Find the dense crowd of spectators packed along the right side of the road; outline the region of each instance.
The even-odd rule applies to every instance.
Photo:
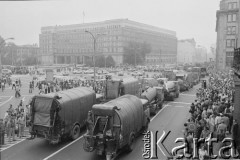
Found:
[[[233,79],[224,73],[211,74],[197,90],[197,99],[190,106],[191,117],[184,124],[184,138],[188,153],[193,152],[193,138],[217,138],[234,135],[236,121],[233,119]],[[233,136],[234,137],[234,136]],[[234,139],[234,138],[233,138]],[[224,145],[224,144],[222,144]],[[213,155],[213,147],[208,150],[206,142],[198,143],[199,159]]]

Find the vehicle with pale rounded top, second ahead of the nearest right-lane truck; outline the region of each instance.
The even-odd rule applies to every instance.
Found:
[[[164,92],[164,98],[173,101],[174,98],[179,97],[179,93],[180,87],[178,81],[168,81]]]

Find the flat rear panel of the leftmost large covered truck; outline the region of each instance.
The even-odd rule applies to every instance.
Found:
[[[34,103],[34,125],[50,127],[50,109],[53,98],[37,97]]]

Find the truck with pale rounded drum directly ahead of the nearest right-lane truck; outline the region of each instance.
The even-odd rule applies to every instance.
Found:
[[[164,102],[163,87],[150,87],[141,94],[141,98],[148,100],[150,114],[155,115]]]

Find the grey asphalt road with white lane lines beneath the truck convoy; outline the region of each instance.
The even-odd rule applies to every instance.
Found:
[[[159,136],[163,131],[171,131],[166,138],[164,145],[168,150],[174,146],[174,141],[182,137],[183,124],[189,118],[189,106],[195,99],[195,89],[184,92],[173,102],[167,102],[164,109],[160,110],[155,117],[152,117],[149,130],[159,131]],[[2,108],[0,108],[2,109]],[[1,113],[2,114],[2,113]],[[82,132],[82,134],[84,131]],[[119,160],[140,160],[143,159],[142,136],[137,138],[135,149],[131,153],[122,153],[116,159]],[[98,160],[95,152],[85,152],[83,150],[83,138],[71,142],[66,141],[58,145],[50,145],[42,139],[24,140],[2,152],[3,160]],[[166,159],[164,154],[158,149],[158,159]]]

